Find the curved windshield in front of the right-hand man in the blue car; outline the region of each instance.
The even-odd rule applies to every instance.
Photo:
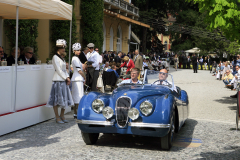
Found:
[[[162,85],[171,90],[176,90],[173,76],[165,71],[145,70],[143,84]]]

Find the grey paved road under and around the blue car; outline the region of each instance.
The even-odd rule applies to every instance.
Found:
[[[0,137],[0,159],[240,159],[240,132],[235,128],[235,92],[224,88],[208,71],[172,72],[190,98],[190,117],[175,135],[170,151],[159,139],[101,135],[86,146],[70,114],[70,123],[49,120]]]

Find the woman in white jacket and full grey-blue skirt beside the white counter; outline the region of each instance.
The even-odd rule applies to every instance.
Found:
[[[60,124],[68,123],[64,118],[64,112],[67,107],[72,107],[74,105],[69,89],[71,80],[67,73],[66,62],[62,58],[66,44],[67,42],[64,39],[59,39],[56,42],[57,53],[52,58],[55,73],[52,79],[53,83],[50,97],[46,105],[47,107],[53,107],[56,122]],[[58,115],[58,107],[61,108],[60,116]]]

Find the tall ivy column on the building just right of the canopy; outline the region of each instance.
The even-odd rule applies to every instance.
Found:
[[[103,0],[82,0],[81,16],[82,16],[82,37],[83,46],[88,43],[94,43],[95,47],[102,50],[103,46]]]

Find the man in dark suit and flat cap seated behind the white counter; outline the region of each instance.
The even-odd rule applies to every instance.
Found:
[[[19,57],[20,61],[24,61],[24,64],[35,64],[36,60],[33,57],[33,48],[25,47],[23,55]]]

